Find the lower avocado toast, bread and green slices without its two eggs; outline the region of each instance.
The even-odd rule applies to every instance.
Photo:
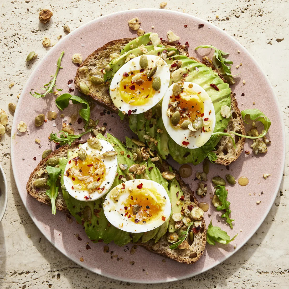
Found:
[[[105,218],[103,212],[104,198],[99,198],[95,201],[78,201],[71,197],[65,189],[63,175],[67,157],[78,148],[79,144],[81,144],[79,142],[75,142],[71,146],[62,146],[43,159],[29,177],[26,187],[27,192],[38,201],[50,204],[50,200],[45,194],[48,188],[46,185],[48,182],[43,183],[42,181],[47,179],[47,161],[48,164],[50,164],[51,162],[49,160],[51,160],[51,158],[53,158],[53,160],[58,159],[57,164],[54,165],[55,168],[59,167],[61,171],[60,181],[56,181],[56,186],[59,188],[58,197],[55,201],[56,208],[62,212],[72,214],[78,223],[84,225],[86,234],[93,242],[110,243],[114,241],[114,243],[119,246],[123,246],[132,241],[149,251],[169,257],[178,262],[186,264],[196,262],[205,249],[206,226],[202,216],[197,216],[197,220],[190,217],[193,209],[198,208],[198,202],[189,186],[186,185],[179,176],[179,173],[166,162],[152,162],[150,158],[147,160],[134,161],[131,156],[140,148],[138,146],[140,143],[137,141],[126,138],[125,146],[110,134],[107,135],[107,139],[101,134],[98,134],[97,138],[110,142],[117,152],[119,165],[112,188],[127,179],[136,178],[154,180],[162,184],[166,189],[172,204],[172,217],[167,219],[163,225],[146,233],[130,234],[112,226]],[[121,164],[125,164],[126,166],[121,166]],[[129,168],[132,165],[136,165],[138,168],[143,167],[143,171],[130,173]],[[163,177],[166,176],[166,174],[170,175],[168,179]],[[173,216],[174,213],[175,215]],[[174,219],[176,220],[176,214],[181,215],[182,218],[189,218],[190,222],[193,222],[190,230],[183,221],[174,221]],[[176,224],[177,222],[178,224]],[[188,222],[188,220],[185,222]],[[182,247],[170,249],[169,246],[177,241],[178,234],[181,235],[181,231],[185,230],[190,231],[190,233],[187,234],[186,240],[181,243]],[[170,242],[168,240],[170,240]]]

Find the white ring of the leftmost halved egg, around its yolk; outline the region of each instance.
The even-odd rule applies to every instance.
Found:
[[[68,191],[68,193],[75,199],[79,200],[79,201],[94,201],[99,199],[100,197],[102,197],[103,195],[105,195],[108,190],[110,189],[110,187],[112,186],[115,176],[116,176],[116,170],[117,170],[117,157],[116,155],[113,157],[104,157],[102,155],[102,153],[106,152],[106,151],[114,151],[114,148],[112,147],[112,145],[105,141],[105,140],[99,140],[101,143],[101,151],[97,150],[97,149],[93,149],[92,147],[90,147],[88,145],[88,143],[84,143],[81,144],[79,146],[78,149],[76,149],[73,154],[71,155],[71,157],[68,159],[68,162],[66,164],[65,167],[65,173],[63,176],[63,180],[64,180],[64,186],[66,188],[66,190]],[[68,168],[73,167],[74,165],[74,161],[72,160],[73,158],[78,156],[78,151],[79,149],[85,149],[87,155],[91,155],[91,154],[97,154],[99,153],[99,158],[103,161],[104,165],[105,165],[105,178],[103,179],[103,182],[99,185],[99,188],[104,188],[104,190],[99,193],[97,188],[95,190],[92,190],[92,193],[89,193],[89,190],[83,190],[80,188],[75,188],[75,185],[73,183],[73,180],[70,176],[66,175],[66,172],[68,170]],[[69,164],[69,161],[71,160],[71,163]],[[73,187],[73,188],[72,188]]]

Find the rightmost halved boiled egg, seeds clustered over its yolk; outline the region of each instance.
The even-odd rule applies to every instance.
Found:
[[[180,146],[195,149],[211,137],[216,123],[214,105],[198,84],[172,84],[162,101],[162,119],[171,138]]]

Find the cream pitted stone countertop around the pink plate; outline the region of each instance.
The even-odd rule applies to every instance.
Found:
[[[0,0],[0,108],[8,112],[8,103],[17,102],[35,65],[49,48],[42,38],[51,42],[63,32],[112,12],[135,8],[160,8],[162,1],[44,1]],[[289,1],[284,0],[214,0],[170,1],[164,9],[188,13],[213,23],[238,40],[268,75],[279,99],[288,138],[288,59]],[[190,4],[188,4],[190,2]],[[194,3],[192,3],[194,2]],[[176,4],[177,3],[177,4]],[[38,21],[43,8],[53,11],[47,25]],[[216,18],[218,15],[218,19]],[[26,66],[26,55],[38,53],[32,66]],[[14,83],[9,88],[10,83]],[[9,113],[11,127],[13,115]],[[274,148],[277,149],[277,148]],[[8,207],[0,223],[0,288],[129,288],[134,284],[101,277],[81,268],[55,249],[36,228],[27,214],[15,186],[10,165],[9,132],[0,141],[0,163],[4,168],[9,190]],[[254,236],[232,257],[215,268],[190,279],[150,288],[288,288],[288,164],[286,153],[284,179],[275,204],[266,221]],[[248,224],[249,226],[250,224]],[[29,238],[30,237],[30,238]],[[147,288],[138,284],[138,288]]]

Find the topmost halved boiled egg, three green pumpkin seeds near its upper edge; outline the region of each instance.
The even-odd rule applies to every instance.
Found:
[[[129,60],[115,73],[110,84],[110,97],[120,111],[139,114],[164,97],[169,81],[170,71],[162,58],[141,55]]]

